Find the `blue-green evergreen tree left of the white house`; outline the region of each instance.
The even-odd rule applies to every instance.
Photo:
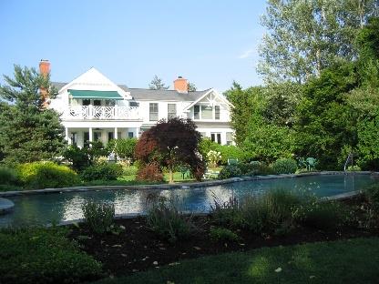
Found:
[[[56,111],[44,106],[41,88],[49,97],[56,96],[49,76],[15,66],[15,78],[4,77],[6,85],[0,86],[0,97],[5,100],[0,113],[0,158],[15,164],[56,157],[65,146],[64,127]]]

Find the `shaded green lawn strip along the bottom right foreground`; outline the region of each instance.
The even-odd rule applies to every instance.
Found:
[[[275,272],[275,270],[281,270]],[[104,279],[118,283],[378,283],[379,238],[235,252]]]

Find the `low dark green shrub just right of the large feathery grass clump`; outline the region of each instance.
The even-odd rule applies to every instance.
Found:
[[[328,230],[342,227],[348,210],[341,202],[316,200],[299,206],[293,216],[304,226]]]

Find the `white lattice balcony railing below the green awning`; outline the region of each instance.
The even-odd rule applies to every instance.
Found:
[[[141,119],[138,106],[68,106],[64,113],[66,119]]]

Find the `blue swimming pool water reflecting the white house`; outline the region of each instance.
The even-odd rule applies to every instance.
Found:
[[[177,189],[118,189],[9,197],[15,203],[13,212],[0,216],[0,227],[48,224],[82,218],[82,205],[89,199],[113,202],[116,214],[143,213],[151,194],[179,200],[179,208],[192,212],[207,212],[214,197],[229,200],[246,194],[260,194],[275,188],[307,192],[318,197],[363,189],[379,183],[370,175],[317,175],[242,181],[207,188]]]

